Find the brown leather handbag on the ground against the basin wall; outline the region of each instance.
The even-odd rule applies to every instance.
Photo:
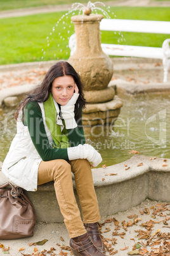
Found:
[[[10,186],[10,187],[9,187]],[[20,187],[10,182],[0,186],[0,239],[33,236],[36,213]]]

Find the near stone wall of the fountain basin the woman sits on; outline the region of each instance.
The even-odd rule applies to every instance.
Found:
[[[101,217],[126,211],[147,198],[170,202],[170,159],[164,162],[161,158],[133,155],[105,169],[92,169],[92,173]],[[0,185],[6,181],[9,180],[0,171]],[[25,191],[25,194],[34,204],[37,221],[63,222],[52,181],[38,186],[37,192]]]

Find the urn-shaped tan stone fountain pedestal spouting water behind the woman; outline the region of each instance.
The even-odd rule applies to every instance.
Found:
[[[72,16],[75,26],[76,48],[69,63],[81,75],[84,84],[86,109],[83,124],[91,127],[99,124],[114,124],[122,101],[115,96],[114,87],[109,87],[114,68],[112,60],[101,49],[100,21],[103,15],[91,14],[84,8],[82,15]]]

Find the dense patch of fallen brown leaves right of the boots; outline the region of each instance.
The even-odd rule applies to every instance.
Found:
[[[119,220],[115,218],[107,218],[105,222],[100,224],[100,232],[103,239],[103,243],[109,255],[117,254],[121,255],[121,251],[129,250],[129,245],[117,250],[119,239],[124,239],[129,227],[136,225],[138,229],[135,229],[136,236],[129,238],[134,241],[133,248],[129,250],[128,255],[145,255],[145,256],[170,256],[170,232],[163,232],[162,228],[169,227],[168,221],[170,220],[170,208],[169,203],[156,203],[149,208],[143,208],[143,211],[139,211],[140,217],[136,214],[127,216],[131,220],[123,220],[120,224]],[[148,216],[148,220],[142,222],[142,218]],[[162,217],[161,220],[155,220],[156,217]],[[165,217],[165,218],[163,218]],[[152,220],[153,218],[153,220]],[[126,219],[126,216],[125,216]],[[109,231],[108,227],[103,228],[105,225],[115,225],[115,231],[112,232],[112,236],[105,237],[105,233]],[[155,229],[155,224],[160,225],[160,229]],[[166,226],[164,226],[164,225]],[[121,232],[124,229],[126,232]],[[118,232],[119,230],[119,232]],[[138,241],[135,243],[135,241]],[[141,241],[141,242],[140,242]],[[127,239],[126,239],[127,244]],[[157,247],[159,246],[159,247]]]

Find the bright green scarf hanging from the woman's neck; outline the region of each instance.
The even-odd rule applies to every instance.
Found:
[[[64,120],[62,120],[64,125],[62,131],[61,126],[56,124],[57,112],[51,92],[49,92],[48,100],[44,101],[44,112],[46,117],[46,125],[48,126],[48,129],[53,137],[53,148],[68,148],[70,144],[67,129],[65,129]]]

